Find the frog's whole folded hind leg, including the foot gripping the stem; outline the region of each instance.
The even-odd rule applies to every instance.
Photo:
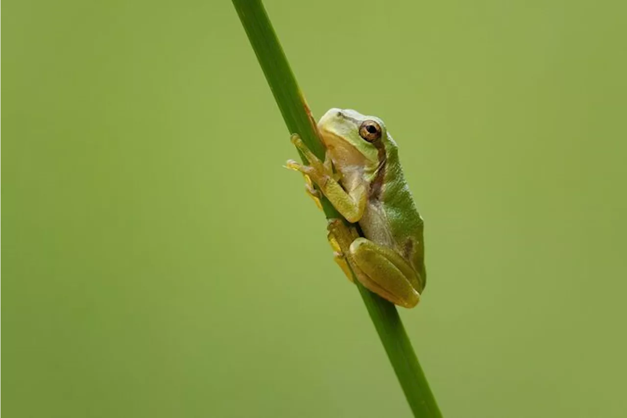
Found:
[[[413,308],[418,304],[418,290],[423,286],[416,271],[403,257],[387,247],[359,237],[352,230],[354,228],[347,227],[341,220],[330,220],[328,229],[329,236],[342,249],[343,257],[361,284],[404,308]],[[346,272],[344,268],[342,270]]]

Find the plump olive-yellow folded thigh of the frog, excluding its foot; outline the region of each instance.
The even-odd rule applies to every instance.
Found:
[[[368,289],[405,308],[418,304],[420,294],[412,286],[418,284],[418,277],[400,255],[366,238],[357,238],[350,244],[350,255],[364,273],[357,278]]]

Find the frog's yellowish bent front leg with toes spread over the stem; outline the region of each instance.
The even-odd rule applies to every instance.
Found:
[[[347,192],[340,186],[337,174],[333,173],[328,153],[325,161],[322,162],[309,150],[298,135],[292,135],[292,143],[305,155],[309,165],[305,166],[290,160],[286,164],[287,168],[300,171],[310,178],[327,196],[337,212],[341,213],[347,221],[350,223],[359,222],[364,210],[366,210],[366,186],[360,185]]]

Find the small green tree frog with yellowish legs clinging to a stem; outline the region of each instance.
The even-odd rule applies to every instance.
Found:
[[[413,308],[426,283],[423,219],[403,176],[396,142],[381,119],[356,110],[330,109],[317,127],[325,161],[294,134],[292,143],[308,165],[289,160],[287,168],[305,175],[312,197],[324,193],[347,221],[359,224],[363,237],[356,225],[329,220],[335,261],[351,281],[347,266],[367,289]]]

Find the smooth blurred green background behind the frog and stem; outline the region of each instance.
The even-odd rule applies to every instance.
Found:
[[[624,2],[266,8],[399,144],[445,416],[624,417]],[[5,2],[0,46],[1,417],[410,416],[229,1]]]

